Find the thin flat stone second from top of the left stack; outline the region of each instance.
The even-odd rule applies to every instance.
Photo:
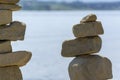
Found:
[[[0,4],[1,10],[11,10],[11,11],[18,11],[21,9],[21,6],[16,4]]]

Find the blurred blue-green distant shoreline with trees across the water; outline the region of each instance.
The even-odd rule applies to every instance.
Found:
[[[120,10],[120,2],[53,2],[53,1],[21,1],[23,10]]]

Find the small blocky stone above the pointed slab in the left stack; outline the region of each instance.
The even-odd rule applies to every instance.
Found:
[[[0,54],[12,52],[11,41],[0,41]]]

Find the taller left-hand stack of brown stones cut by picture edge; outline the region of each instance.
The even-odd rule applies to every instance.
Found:
[[[23,80],[19,67],[27,64],[31,52],[12,52],[11,41],[24,40],[26,25],[12,22],[12,12],[20,10],[19,0],[0,0],[0,80]]]

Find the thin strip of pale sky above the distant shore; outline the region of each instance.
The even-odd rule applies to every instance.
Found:
[[[120,1],[120,0],[39,0],[39,1],[83,1],[83,2],[114,2],[114,1]]]

